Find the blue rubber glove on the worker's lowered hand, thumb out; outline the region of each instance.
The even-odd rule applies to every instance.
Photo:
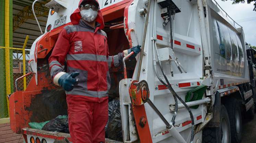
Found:
[[[65,91],[71,91],[78,84],[78,81],[75,79],[80,73],[73,72],[71,74],[65,73],[62,75],[58,83]]]

